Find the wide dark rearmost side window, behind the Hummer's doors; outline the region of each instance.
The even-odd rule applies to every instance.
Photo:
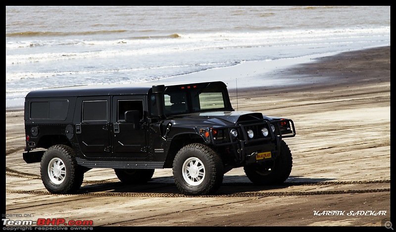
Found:
[[[32,101],[30,118],[34,120],[65,120],[68,109],[68,100]]]

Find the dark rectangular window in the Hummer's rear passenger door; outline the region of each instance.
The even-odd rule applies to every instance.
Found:
[[[83,101],[83,122],[107,121],[107,101]]]

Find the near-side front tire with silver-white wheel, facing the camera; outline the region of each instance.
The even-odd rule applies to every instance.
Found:
[[[208,146],[192,143],[177,152],[173,179],[185,195],[213,194],[221,186],[224,168],[220,157]]]

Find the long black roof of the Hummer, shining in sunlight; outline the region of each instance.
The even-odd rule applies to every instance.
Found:
[[[192,84],[208,84],[204,83],[192,83]],[[223,82],[210,82],[212,84],[224,85]],[[65,96],[99,96],[99,95],[125,95],[125,94],[148,94],[155,85],[179,86],[179,85],[191,85],[190,83],[137,83],[137,84],[107,84],[107,85],[82,85],[82,86],[69,86],[69,87],[57,87],[43,90],[35,90],[26,95],[28,97],[65,97]]]

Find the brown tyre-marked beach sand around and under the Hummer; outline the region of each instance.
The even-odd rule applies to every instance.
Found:
[[[225,174],[225,185],[218,194],[284,191],[284,196],[98,197],[94,193],[165,191],[152,186],[126,190],[118,185],[114,189],[111,185],[92,189],[99,180],[118,183],[111,170],[101,169],[87,172],[82,186],[82,191],[94,195],[50,195],[39,179],[40,165],[27,165],[22,160],[23,111],[6,110],[6,213],[34,214],[32,220],[89,219],[97,226],[382,226],[391,213],[390,68],[390,46],[375,47],[316,58],[267,73],[283,79],[285,85],[251,83],[250,88],[230,89],[236,110],[258,111],[294,121],[297,135],[285,139],[293,154],[293,170],[286,183],[332,184],[252,189],[238,185],[248,182],[239,168]],[[171,170],[156,170],[153,179],[159,181],[166,176],[171,176]],[[227,183],[237,183],[237,187]],[[287,194],[335,190],[345,192]],[[169,191],[178,193],[175,187]],[[186,200],[190,202],[187,205],[183,203]],[[43,201],[48,205],[40,206]],[[145,206],[138,207],[137,201]],[[134,207],[139,210],[133,211]],[[127,218],[120,218],[126,208],[135,213],[131,211]],[[315,210],[382,210],[387,214],[318,217],[313,215]],[[180,213],[186,211],[189,213]]]

